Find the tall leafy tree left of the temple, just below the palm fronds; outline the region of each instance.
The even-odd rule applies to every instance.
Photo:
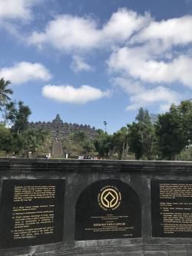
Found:
[[[23,101],[18,101],[18,104],[11,101],[6,105],[5,120],[10,121],[12,131],[22,134],[28,128],[28,116],[31,115],[31,110]]]

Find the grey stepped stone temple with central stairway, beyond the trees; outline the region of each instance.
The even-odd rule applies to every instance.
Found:
[[[78,131],[84,131],[88,138],[93,139],[98,131],[90,125],[78,125],[78,124],[68,124],[63,122],[59,115],[53,121],[38,121],[28,123],[28,128],[45,129],[50,131],[51,134],[51,144],[48,148],[48,153],[54,157],[62,157],[66,154],[71,154],[66,146],[66,139],[71,139],[71,135]]]

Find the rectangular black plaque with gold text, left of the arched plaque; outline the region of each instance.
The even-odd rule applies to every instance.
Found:
[[[4,180],[0,248],[62,241],[65,180]]]

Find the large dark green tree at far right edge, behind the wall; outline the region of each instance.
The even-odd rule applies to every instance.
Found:
[[[159,115],[156,134],[161,157],[175,160],[192,139],[192,101],[171,105],[169,111]]]

